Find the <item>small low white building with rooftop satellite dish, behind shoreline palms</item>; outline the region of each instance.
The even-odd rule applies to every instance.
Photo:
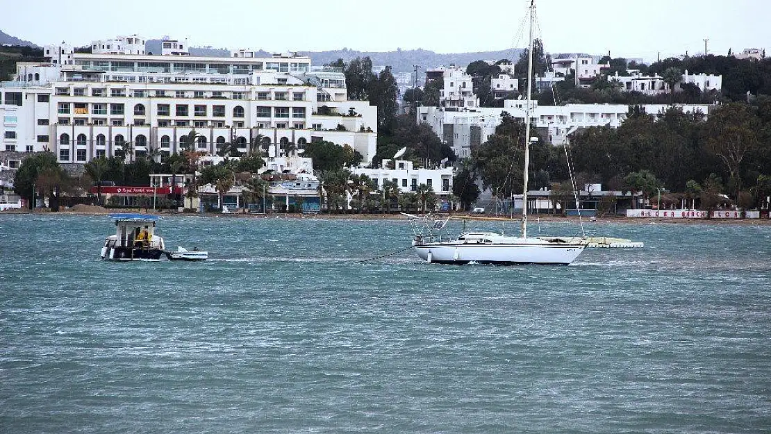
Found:
[[[356,175],[367,175],[375,184],[375,190],[382,190],[385,181],[392,181],[399,185],[402,193],[415,192],[420,184],[426,184],[433,188],[439,197],[446,197],[453,193],[453,168],[443,167],[439,169],[416,169],[409,160],[393,160],[394,169],[388,169],[389,161],[383,160],[379,169],[356,168],[352,172]]]

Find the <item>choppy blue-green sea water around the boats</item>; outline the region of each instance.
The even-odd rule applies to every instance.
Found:
[[[771,226],[584,226],[645,247],[453,266],[396,218],[170,216],[208,261],[115,263],[107,216],[0,215],[0,432],[771,432]]]

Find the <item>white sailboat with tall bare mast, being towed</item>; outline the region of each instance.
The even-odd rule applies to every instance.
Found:
[[[439,264],[571,264],[588,245],[581,237],[527,236],[527,181],[530,165],[530,96],[533,86],[533,20],[535,0],[530,0],[530,49],[527,59],[527,108],[525,109],[524,183],[522,194],[522,230],[520,237],[494,232],[466,232],[454,240],[443,241],[441,230],[447,220],[428,225],[427,232],[416,224],[420,217],[406,214],[415,237],[412,247],[419,257]]]

